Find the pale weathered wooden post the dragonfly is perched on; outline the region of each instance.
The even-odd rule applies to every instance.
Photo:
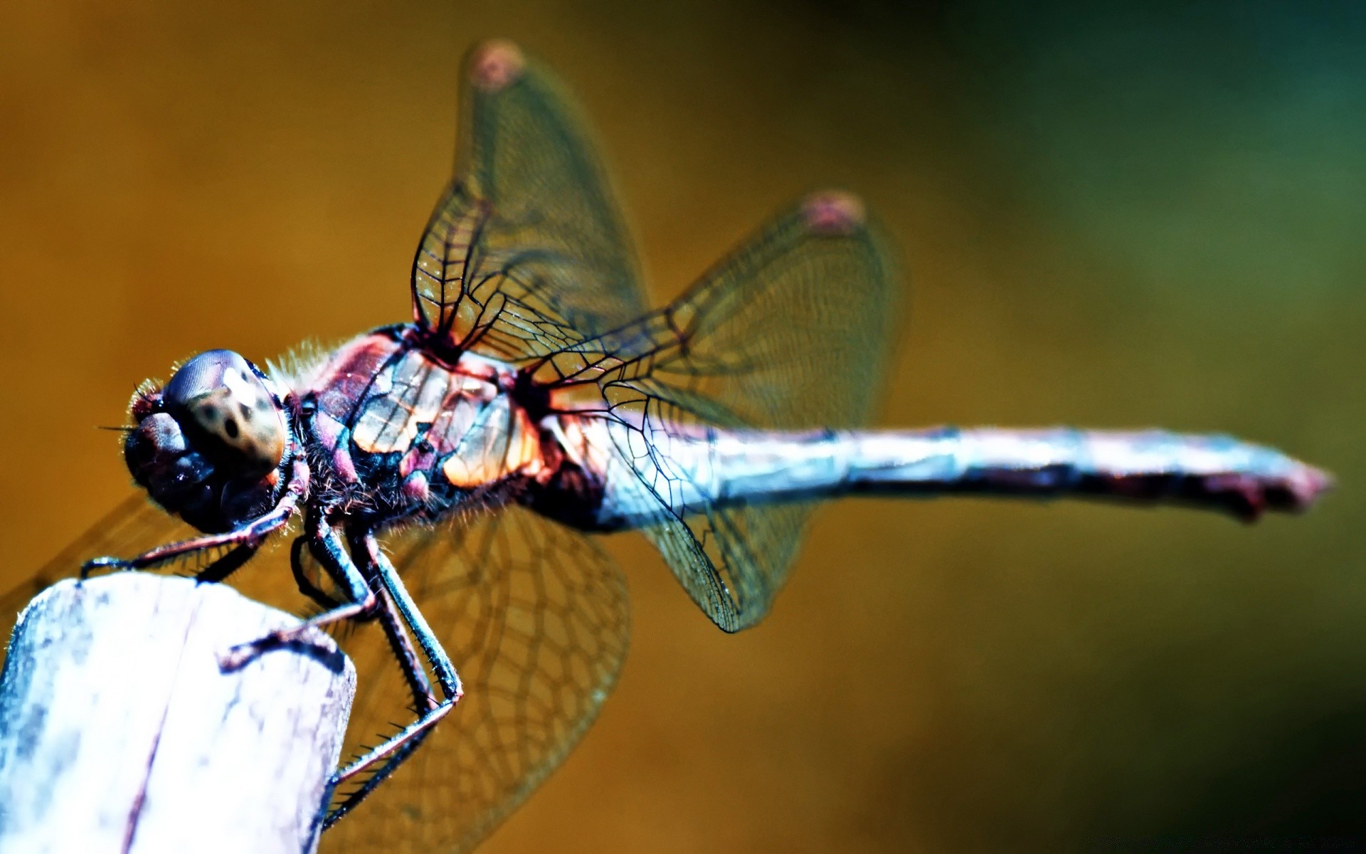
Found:
[[[0,680],[0,851],[299,854],[355,691],[324,633],[232,588],[117,573],[44,590]]]

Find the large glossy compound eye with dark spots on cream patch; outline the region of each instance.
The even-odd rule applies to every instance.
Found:
[[[163,392],[167,411],[243,473],[266,473],[284,458],[284,415],[245,358],[209,350],[184,363]]]

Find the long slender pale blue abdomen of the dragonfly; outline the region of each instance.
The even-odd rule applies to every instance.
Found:
[[[706,430],[628,436],[608,428],[620,454],[607,466],[604,527],[683,515],[705,506],[800,501],[852,493],[1086,496],[1225,510],[1253,521],[1300,511],[1332,478],[1284,454],[1228,436],[1158,430],[994,428],[781,433]],[[620,435],[616,435],[620,433]],[[641,482],[649,488],[641,489]]]

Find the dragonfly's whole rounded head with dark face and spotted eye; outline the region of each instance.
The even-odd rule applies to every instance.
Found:
[[[123,458],[154,501],[199,530],[229,530],[269,510],[288,443],[284,404],[231,350],[194,357],[133,398]]]

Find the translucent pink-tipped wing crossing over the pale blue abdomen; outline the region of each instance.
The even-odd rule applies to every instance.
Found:
[[[809,504],[690,503],[669,445],[703,425],[862,425],[896,320],[897,271],[858,199],[817,194],[773,220],[676,303],[544,361],[594,383],[620,463],[653,496],[646,536],[727,631],[758,622],[787,577]],[[693,492],[697,495],[697,492]]]

